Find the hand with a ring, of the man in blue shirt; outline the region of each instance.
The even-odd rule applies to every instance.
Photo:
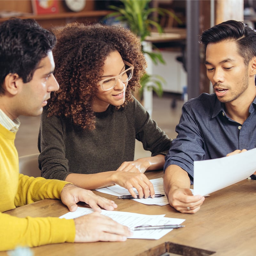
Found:
[[[204,196],[193,196],[189,188],[177,188],[169,191],[170,205],[182,213],[196,213],[204,202]]]

